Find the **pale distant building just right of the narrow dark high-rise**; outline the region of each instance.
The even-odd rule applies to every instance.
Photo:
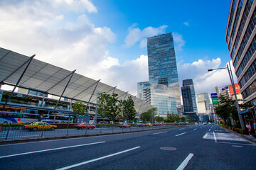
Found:
[[[210,113],[210,98],[208,93],[197,94],[198,114]]]

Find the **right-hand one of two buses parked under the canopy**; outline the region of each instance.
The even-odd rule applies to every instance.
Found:
[[[46,114],[46,115],[43,115],[42,122],[46,122],[46,123],[68,123],[68,119],[70,120],[69,123],[73,123],[73,119],[74,119],[73,116],[69,116],[69,115],[48,115],[48,114]]]

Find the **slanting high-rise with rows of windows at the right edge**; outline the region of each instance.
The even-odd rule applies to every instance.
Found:
[[[225,40],[242,98],[256,101],[256,1],[231,0]]]

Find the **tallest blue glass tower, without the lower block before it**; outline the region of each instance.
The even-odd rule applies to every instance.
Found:
[[[147,39],[149,83],[171,86],[176,94],[176,106],[181,111],[174,38],[166,33]]]

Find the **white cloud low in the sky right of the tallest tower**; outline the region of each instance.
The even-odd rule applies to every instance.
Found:
[[[214,70],[208,69],[220,67],[220,58],[213,60],[198,60],[193,63],[178,63],[178,78],[180,86],[183,79],[193,79],[196,94],[207,92],[214,93],[215,86],[225,86],[230,84],[227,69]]]

